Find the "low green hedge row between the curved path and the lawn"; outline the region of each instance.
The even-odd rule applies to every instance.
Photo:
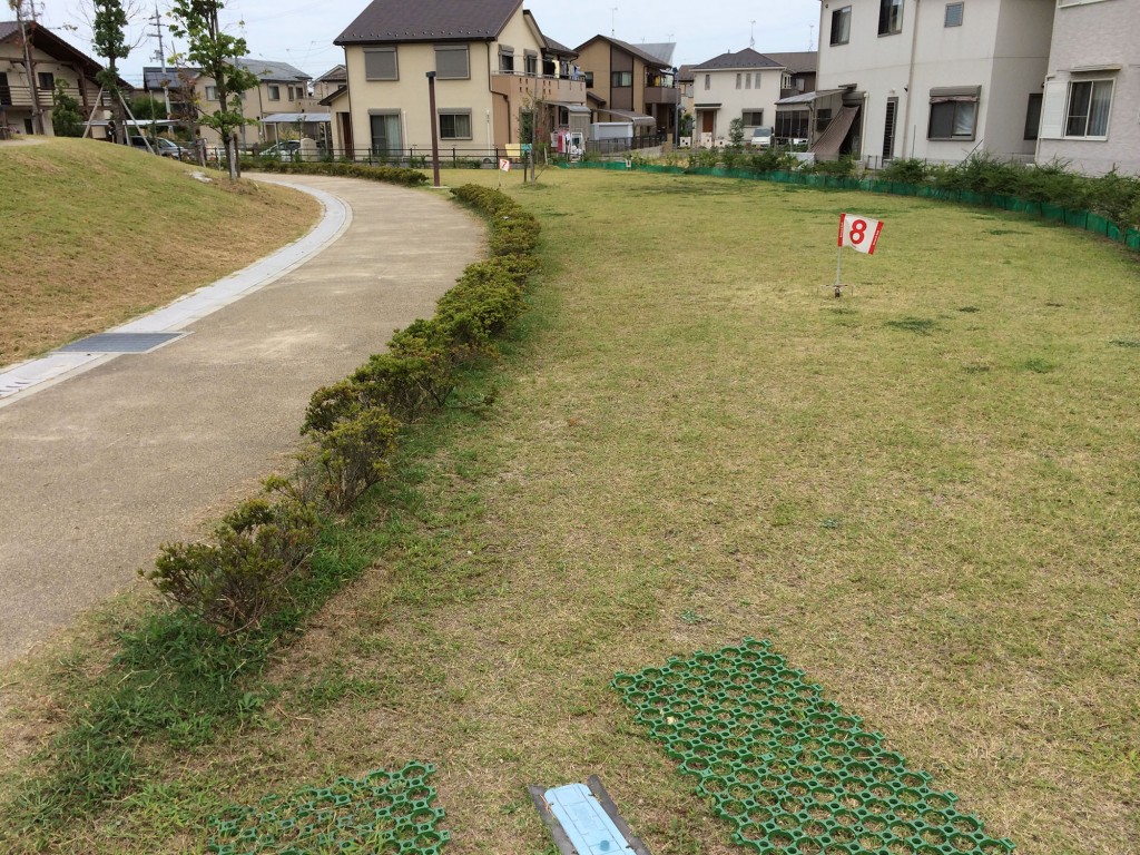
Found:
[[[333,166],[336,174],[363,170],[368,177],[409,172],[282,165],[319,173]],[[397,331],[383,353],[312,394],[301,426],[309,443],[288,477],[266,481],[272,500],[239,505],[217,527],[213,543],[164,545],[155,569],[145,573],[164,596],[220,634],[256,627],[286,605],[296,609],[317,521],[351,511],[390,475],[401,431],[446,406],[458,372],[494,356],[495,340],[524,310],[537,269],[537,220],[498,190],[469,185],[453,193],[487,218],[491,258],[464,270],[433,317]]]

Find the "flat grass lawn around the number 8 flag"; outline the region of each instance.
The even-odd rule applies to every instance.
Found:
[[[1137,258],[912,198],[620,172],[508,190],[546,272],[473,381],[494,405],[406,449],[383,556],[260,715],[149,749],[149,783],[51,847],[201,850],[226,804],[415,759],[455,855],[552,852],[526,784],[592,773],[657,855],[740,852],[608,684],[755,636],[1018,852],[1135,852]],[[836,300],[841,211],[886,228]],[[9,681],[81,683],[100,633]],[[51,730],[35,691],[0,738]]]

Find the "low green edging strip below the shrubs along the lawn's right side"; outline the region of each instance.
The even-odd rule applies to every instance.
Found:
[[[1002,193],[978,193],[966,187],[946,187],[933,184],[911,184],[878,178],[855,178],[838,174],[816,174],[790,171],[757,172],[750,169],[723,169],[715,166],[669,166],[633,162],[629,166],[622,161],[585,162],[562,164],[564,169],[609,169],[637,170],[674,176],[711,176],[716,178],[742,178],[754,181],[774,181],[776,184],[793,184],[806,187],[819,187],[837,190],[862,190],[864,193],[885,193],[896,196],[919,196],[944,202],[958,202],[968,205],[985,205],[1017,213],[1041,217],[1053,222],[1060,222],[1073,228],[1084,229],[1092,234],[1122,243],[1130,250],[1140,251],[1140,228],[1121,228],[1107,217],[1088,210],[1072,210],[1049,201],[1032,201]]]

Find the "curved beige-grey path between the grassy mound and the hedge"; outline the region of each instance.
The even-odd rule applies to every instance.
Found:
[[[0,663],[255,490],[295,446],[312,391],[429,317],[482,251],[482,225],[442,195],[275,180],[342,199],[350,225],[255,293],[177,326],[192,334],[99,358],[0,407]],[[172,317],[128,326],[169,328]]]

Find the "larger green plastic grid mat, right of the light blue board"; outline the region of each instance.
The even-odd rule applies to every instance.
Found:
[[[768,642],[670,658],[618,674],[613,687],[697,791],[751,852],[781,855],[1007,855],[984,832],[825,700]]]

